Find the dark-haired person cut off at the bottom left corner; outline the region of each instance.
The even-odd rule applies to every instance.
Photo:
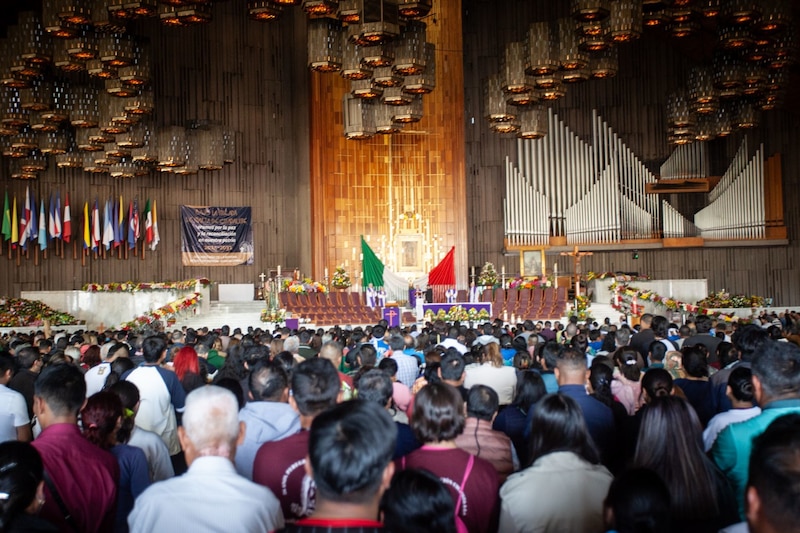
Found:
[[[42,457],[29,443],[0,444],[0,531],[58,531],[37,515],[44,505],[43,472]]]

